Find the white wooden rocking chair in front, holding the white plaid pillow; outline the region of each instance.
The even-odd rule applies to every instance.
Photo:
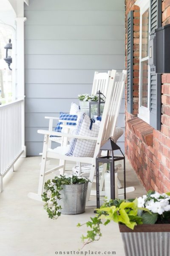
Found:
[[[38,186],[38,193],[29,193],[28,197],[36,200],[41,199],[41,195],[43,192],[43,184],[44,184],[44,177],[49,173],[53,172],[54,170],[60,170],[60,174],[63,174],[65,169],[65,161],[74,161],[79,163],[89,163],[91,164],[91,172],[89,179],[91,182],[88,184],[88,192],[87,192],[87,206],[94,206],[96,203],[94,201],[89,201],[91,195],[91,186],[94,180],[95,168],[96,168],[96,157],[99,153],[100,146],[105,143],[109,137],[111,137],[112,132],[116,126],[116,119],[119,114],[120,103],[122,99],[122,94],[125,86],[125,78],[126,78],[126,71],[123,70],[122,73],[116,73],[116,70],[111,71],[111,79],[109,81],[108,90],[106,93],[106,101],[105,107],[103,110],[102,121],[99,128],[98,137],[88,137],[88,136],[79,136],[75,134],[64,134],[58,133],[54,131],[45,131],[45,130],[38,130],[38,133],[44,134],[44,145],[43,145],[43,152],[42,152],[42,161],[41,161],[41,168],[40,168],[40,180]],[[50,135],[62,136],[65,138],[78,138],[80,140],[95,140],[96,141],[96,148],[94,151],[93,157],[74,157],[74,156],[66,156],[65,154],[56,153],[51,149],[48,149],[48,141]],[[59,147],[62,149],[62,147]],[[50,170],[45,170],[47,160],[54,158],[62,160],[62,165],[54,167]],[[133,188],[133,187],[132,187]],[[134,189],[133,189],[134,190]],[[132,191],[133,191],[132,190]],[[120,189],[119,194],[123,194],[124,189]]]

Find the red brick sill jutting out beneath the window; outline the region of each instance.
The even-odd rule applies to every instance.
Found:
[[[130,130],[134,132],[146,145],[153,145],[153,128],[139,117],[127,121]]]

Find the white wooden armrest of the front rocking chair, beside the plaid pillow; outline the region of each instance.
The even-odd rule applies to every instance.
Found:
[[[39,134],[68,137],[68,138],[77,138],[79,140],[96,140],[97,141],[97,137],[91,137],[91,136],[81,136],[81,135],[76,135],[76,134],[64,134],[62,132],[47,131],[47,130],[38,130],[37,132]]]

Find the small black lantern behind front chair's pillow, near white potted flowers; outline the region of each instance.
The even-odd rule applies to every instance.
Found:
[[[98,101],[89,102],[89,116],[93,119],[102,116],[106,99],[105,95],[103,95],[100,90],[96,93],[96,96],[98,96]],[[99,121],[101,121],[101,119],[99,119]]]

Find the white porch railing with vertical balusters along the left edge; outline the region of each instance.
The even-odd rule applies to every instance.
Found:
[[[25,151],[24,99],[0,105],[0,192],[3,177]]]

